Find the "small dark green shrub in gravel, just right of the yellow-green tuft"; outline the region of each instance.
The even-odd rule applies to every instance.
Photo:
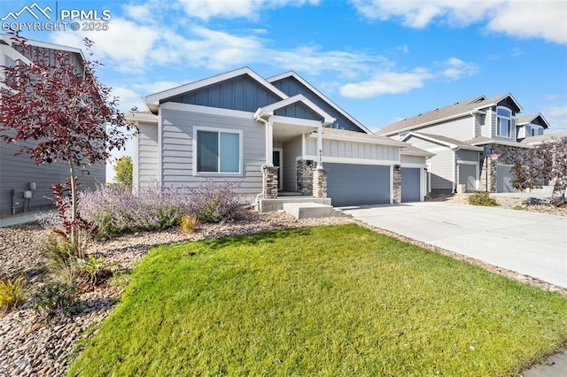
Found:
[[[52,284],[41,289],[34,299],[34,309],[45,320],[58,315],[71,316],[79,311],[79,301],[75,298],[76,289],[71,284]]]

